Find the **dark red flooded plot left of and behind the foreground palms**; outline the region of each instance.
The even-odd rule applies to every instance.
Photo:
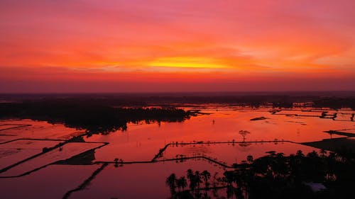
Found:
[[[118,168],[109,165],[92,181],[89,188],[73,193],[70,198],[169,198],[170,191],[165,186],[165,178],[172,173],[177,177],[186,177],[187,169],[200,172],[208,170],[211,173],[210,181],[213,181],[216,172],[218,177],[224,172],[219,166],[203,160],[131,164]],[[225,196],[225,191],[221,194]]]

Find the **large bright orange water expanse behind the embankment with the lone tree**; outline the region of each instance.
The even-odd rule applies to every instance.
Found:
[[[290,140],[293,142],[312,142],[330,138],[326,130],[355,128],[355,123],[322,119],[273,115],[268,108],[232,110],[204,109],[210,115],[199,115],[183,123],[160,123],[160,125],[139,123],[129,124],[126,132],[110,135],[94,135],[88,141],[110,142],[106,147],[97,149],[100,161],[112,161],[118,157],[125,161],[151,160],[160,148],[170,142],[236,142],[243,141],[240,130],[251,132],[246,135],[247,142]],[[307,113],[307,112],[305,112]],[[266,120],[252,118],[266,117]],[[332,137],[342,137],[332,135]],[[282,146],[275,145],[280,151]],[[240,150],[248,150],[250,147]],[[289,147],[296,152],[300,145]]]

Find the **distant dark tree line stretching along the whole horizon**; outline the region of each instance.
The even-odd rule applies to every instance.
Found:
[[[294,103],[310,103],[317,108],[352,108],[355,92],[259,92],[259,93],[136,93],[136,94],[0,94],[0,101],[51,101],[92,106],[183,106],[185,104],[222,103],[239,106],[293,108]],[[298,105],[299,106],[299,105]],[[307,104],[309,106],[309,104]]]

